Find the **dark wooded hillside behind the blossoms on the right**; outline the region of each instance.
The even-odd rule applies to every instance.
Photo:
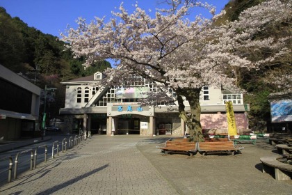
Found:
[[[239,14],[252,6],[256,6],[264,0],[234,0],[229,1],[225,6],[227,14],[220,22],[226,20],[238,20]],[[291,17],[291,16],[290,16]],[[288,17],[287,17],[288,18]],[[220,25],[220,24],[218,24]],[[272,37],[275,40],[284,36],[292,36],[291,21],[283,23],[279,26],[266,26],[263,33],[257,34],[252,39]],[[289,48],[292,48],[291,39],[288,40]],[[245,52],[248,59],[265,59],[268,56],[270,49],[263,48],[261,51],[255,51],[250,48],[250,51]],[[250,126],[262,129],[270,124],[270,103],[269,99],[276,97],[279,99],[291,99],[291,82],[292,82],[292,54],[281,56],[275,63],[267,63],[266,68],[258,72],[249,72],[244,68],[232,70],[236,74],[238,86],[245,89],[245,103],[250,104]],[[279,124],[275,124],[276,126]]]

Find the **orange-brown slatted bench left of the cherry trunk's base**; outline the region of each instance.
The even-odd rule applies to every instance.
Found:
[[[159,148],[168,153],[187,153],[190,156],[197,153],[197,143],[188,141],[166,141],[165,147]]]

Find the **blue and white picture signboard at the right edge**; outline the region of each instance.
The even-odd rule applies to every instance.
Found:
[[[273,100],[270,102],[272,123],[292,121],[292,100]]]

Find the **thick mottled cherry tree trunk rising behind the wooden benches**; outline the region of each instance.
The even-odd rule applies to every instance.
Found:
[[[184,120],[190,133],[190,141],[204,141],[202,134],[202,126],[200,123],[201,107],[200,107],[201,88],[180,89],[177,91],[177,101],[179,102],[179,117]],[[190,111],[185,110],[184,100],[182,96],[190,104]]]

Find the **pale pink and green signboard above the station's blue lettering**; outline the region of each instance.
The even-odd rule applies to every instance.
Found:
[[[122,87],[117,88],[115,92],[115,98],[124,99],[124,98],[147,98],[147,93],[150,92],[149,87]]]

